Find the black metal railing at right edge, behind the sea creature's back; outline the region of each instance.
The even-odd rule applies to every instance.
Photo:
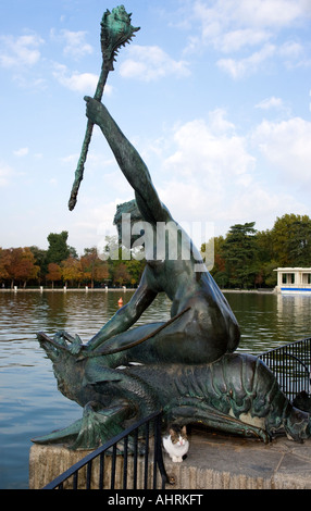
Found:
[[[304,390],[310,395],[311,337],[259,354],[291,401]]]

